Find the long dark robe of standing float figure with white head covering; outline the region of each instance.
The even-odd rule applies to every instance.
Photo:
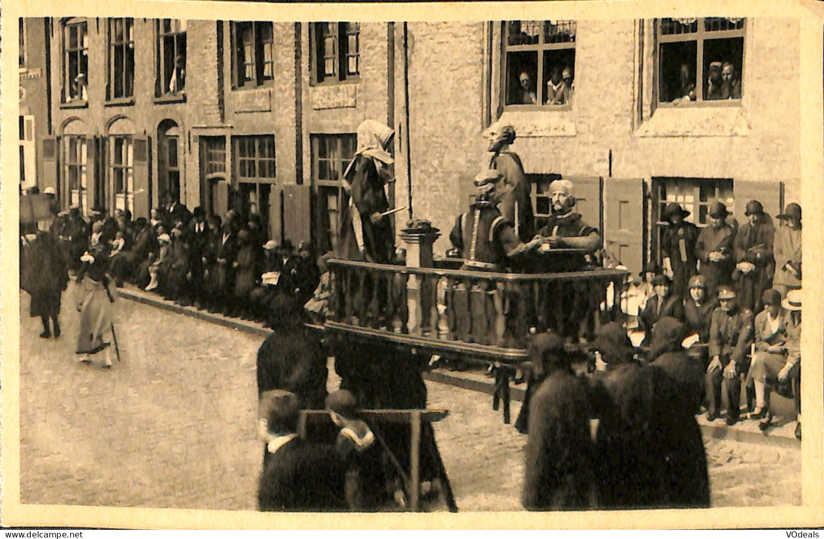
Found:
[[[357,209],[363,225],[363,257],[367,262],[389,263],[395,256],[395,234],[391,219],[383,217],[372,223],[373,213],[389,210],[383,179],[377,173],[372,158],[355,156],[355,162],[347,178],[352,186],[350,197],[353,207],[344,203],[342,208],[339,256],[347,260],[359,260],[361,254],[353,229],[352,211]]]

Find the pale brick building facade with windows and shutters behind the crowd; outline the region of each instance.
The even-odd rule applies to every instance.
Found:
[[[49,51],[38,182],[63,207],[147,216],[171,191],[329,249],[366,118],[396,129],[396,207],[444,232],[484,164],[481,133],[513,124],[537,212],[555,174],[572,179],[634,271],[658,256],[668,201],[705,225],[717,198],[742,221],[753,197],[775,216],[800,196],[796,20],[27,24]]]

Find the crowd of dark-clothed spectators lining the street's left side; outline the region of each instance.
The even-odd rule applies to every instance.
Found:
[[[59,214],[53,231],[70,270],[79,269],[90,246],[105,244],[116,286],[131,283],[180,305],[268,327],[279,295],[306,304],[316,289],[321,293],[319,261],[307,242],[296,250],[289,239],[282,244],[269,239],[256,214],[230,210],[223,220],[202,207],[190,211],[170,194],[163,198],[149,220],[133,220],[131,212],[121,210],[110,216],[93,209],[88,218],[77,208]],[[328,281],[325,276],[327,288]],[[319,306],[319,301],[310,312],[322,316],[325,302]]]

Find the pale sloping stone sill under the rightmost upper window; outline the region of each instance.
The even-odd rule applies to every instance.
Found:
[[[747,109],[738,101],[726,107],[660,107],[634,134],[636,137],[746,137],[749,132]]]

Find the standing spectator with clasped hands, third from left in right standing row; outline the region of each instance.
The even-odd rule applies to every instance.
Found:
[[[775,274],[773,240],[775,228],[772,219],[764,212],[761,202],[747,202],[750,222],[742,225],[735,236],[736,267],[733,281],[737,282],[738,300],[742,307],[753,313],[761,311],[761,295],[772,287]]]

